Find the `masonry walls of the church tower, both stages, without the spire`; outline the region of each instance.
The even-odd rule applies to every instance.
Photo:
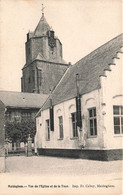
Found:
[[[22,92],[50,93],[49,88],[52,89],[56,86],[67,69],[67,66],[62,64],[62,44],[60,40],[56,39],[56,46],[51,48],[48,44],[48,36],[33,37],[26,42],[25,49],[26,66],[22,69]],[[41,54],[41,59],[47,62],[35,60],[38,54]],[[42,72],[40,86],[37,84],[37,66],[41,68]]]

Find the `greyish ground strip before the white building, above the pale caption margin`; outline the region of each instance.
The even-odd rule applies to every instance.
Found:
[[[6,172],[33,175],[96,175],[122,171],[122,161],[94,161],[46,156],[13,156],[6,159]]]

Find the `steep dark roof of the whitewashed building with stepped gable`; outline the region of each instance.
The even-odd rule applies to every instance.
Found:
[[[79,74],[80,95],[99,89],[100,76],[104,70],[110,70],[109,64],[123,46],[123,34],[97,48],[74,65],[70,66],[65,75],[52,93],[53,105],[72,99],[77,95],[76,74]],[[43,105],[42,110],[50,106],[49,101]]]

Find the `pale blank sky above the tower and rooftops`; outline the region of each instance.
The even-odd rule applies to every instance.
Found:
[[[44,15],[74,64],[122,32],[121,0],[0,0],[0,90],[21,91],[25,42]]]

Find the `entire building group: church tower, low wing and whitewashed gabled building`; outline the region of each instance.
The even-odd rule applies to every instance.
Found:
[[[36,116],[39,155],[122,159],[123,34],[67,64],[42,13],[27,34],[25,50],[21,92],[0,92],[5,119]]]

